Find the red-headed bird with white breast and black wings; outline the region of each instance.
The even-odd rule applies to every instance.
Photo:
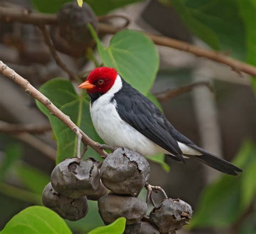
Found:
[[[242,172],[181,134],[159,108],[126,82],[115,68],[95,68],[78,88],[87,90],[93,126],[108,146],[125,147],[143,156],[164,153],[185,164],[187,158],[192,157],[229,175]]]

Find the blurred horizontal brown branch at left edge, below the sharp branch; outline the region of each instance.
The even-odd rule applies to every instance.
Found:
[[[16,124],[0,120],[0,132],[3,133],[44,133],[51,130],[50,125]]]

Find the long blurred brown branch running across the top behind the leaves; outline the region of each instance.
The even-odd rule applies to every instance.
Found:
[[[4,8],[0,6],[0,19],[3,20],[12,20],[12,21],[19,21],[22,23],[29,23],[29,24],[36,24],[36,25],[57,25],[57,17],[56,15],[50,14],[43,14],[43,13],[32,13],[28,10],[18,10],[12,8]],[[114,34],[120,31],[122,28],[111,25],[111,24],[104,24],[99,23],[98,30],[99,33],[102,34]],[[217,61],[218,63],[225,64],[230,66],[232,70],[241,74],[241,72],[245,72],[247,74],[256,77],[256,67],[242,63],[241,61],[232,59],[226,56],[224,53],[214,51],[214,50],[207,50],[196,45],[192,45],[186,42],[182,42],[180,40],[176,40],[170,37],[154,35],[151,33],[143,32],[145,35],[150,37],[153,42],[157,45],[171,47],[177,50],[186,51],[192,53],[199,57],[204,57],[211,59],[213,61]]]

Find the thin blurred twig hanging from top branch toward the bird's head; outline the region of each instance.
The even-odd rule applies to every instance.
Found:
[[[51,51],[52,57],[55,59],[57,65],[59,67],[61,67],[66,73],[68,73],[69,77],[72,80],[77,80],[78,77],[76,76],[76,74],[73,73],[71,70],[69,70],[68,66],[66,66],[66,64],[63,63],[63,61],[59,58],[58,53],[56,52],[55,47],[53,46],[53,44],[51,42],[51,38],[50,38],[48,29],[46,28],[46,26],[45,25],[39,26],[39,29],[41,29],[43,36],[44,36],[44,41],[45,41],[46,45],[48,45],[48,47]]]

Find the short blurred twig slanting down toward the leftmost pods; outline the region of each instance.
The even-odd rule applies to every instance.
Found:
[[[42,152],[45,156],[48,156],[49,159],[55,161],[56,159],[56,149],[46,144],[44,141],[40,140],[38,137],[33,136],[30,133],[12,133],[12,137],[19,139],[33,148]]]

